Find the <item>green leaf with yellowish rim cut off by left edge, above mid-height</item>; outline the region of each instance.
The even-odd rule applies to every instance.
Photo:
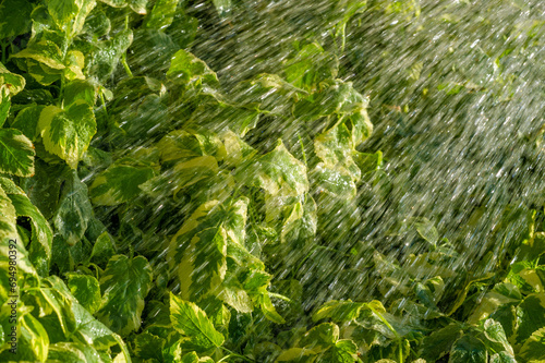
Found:
[[[0,130],[0,172],[17,177],[34,174],[34,145],[15,129]]]

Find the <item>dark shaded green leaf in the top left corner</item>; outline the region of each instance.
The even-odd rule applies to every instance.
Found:
[[[16,11],[14,11],[16,9]],[[2,0],[0,3],[0,39],[15,37],[31,29],[33,5],[26,0]]]

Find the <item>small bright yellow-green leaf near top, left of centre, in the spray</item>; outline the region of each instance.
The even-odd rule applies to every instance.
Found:
[[[208,65],[186,50],[179,50],[172,56],[167,76],[182,83],[217,85],[218,76]]]

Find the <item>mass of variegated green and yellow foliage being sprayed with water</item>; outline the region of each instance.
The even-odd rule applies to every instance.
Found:
[[[543,203],[513,197],[469,254],[403,209],[397,174],[416,164],[372,123],[437,97],[509,101],[507,64],[533,59],[544,23],[506,28],[523,45],[481,55],[484,81],[428,87],[443,64],[415,60],[385,85],[399,78],[360,58],[389,62],[387,46],[362,39],[374,22],[425,32],[423,10],[1,1],[0,361],[545,360]],[[543,131],[525,136],[531,165]],[[367,238],[382,220],[388,239]]]

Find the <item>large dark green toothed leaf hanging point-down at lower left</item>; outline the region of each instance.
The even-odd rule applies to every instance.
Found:
[[[152,266],[144,256],[110,258],[100,277],[102,305],[96,316],[113,331],[126,336],[141,326],[144,298],[152,289]]]

